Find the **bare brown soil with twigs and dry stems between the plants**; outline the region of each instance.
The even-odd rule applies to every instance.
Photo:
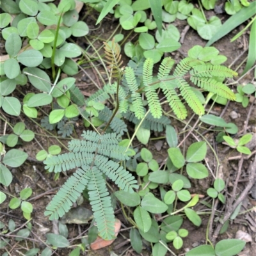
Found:
[[[97,15],[97,13],[95,13],[95,15]],[[222,22],[224,22],[224,20],[227,19],[225,15],[224,16],[222,15],[222,18],[223,18]],[[91,29],[95,28],[94,19],[89,18],[88,20],[85,20],[85,21],[87,22],[87,24]],[[113,24],[111,24],[111,22],[113,22]],[[100,35],[100,38],[104,38],[104,39],[108,38],[108,36],[112,32],[111,29],[115,28],[115,26],[118,24],[117,22],[118,21],[116,20],[113,21],[108,18],[108,22],[102,22],[101,27],[95,31],[90,32],[90,35],[88,36],[88,38],[92,38],[92,36],[99,36],[99,35]],[[109,23],[111,26],[109,26]],[[182,32],[182,30],[186,26],[186,23],[178,20],[177,22],[175,22],[175,26],[177,26],[179,31]],[[230,34],[225,36],[225,38],[222,38],[221,40],[216,42],[216,44],[214,44],[214,47],[216,47],[220,51],[220,54],[224,54],[225,56],[227,56],[228,60],[224,64],[230,65],[231,63],[233,63],[231,67],[232,69],[236,69],[236,67],[241,63],[241,60],[243,60],[243,58],[245,58],[247,54],[247,52],[245,52],[244,54],[242,53],[248,47],[248,33],[241,36],[239,40],[233,42],[232,44],[230,43],[230,38],[232,38],[232,36],[234,36],[237,33],[237,31],[240,31],[243,26],[235,29]],[[77,44],[84,45],[84,47],[88,45],[86,40],[83,41],[83,38],[79,38],[78,40],[79,41],[77,41]],[[136,40],[136,38],[134,38],[133,40]],[[188,33],[186,33],[186,36],[184,38],[184,44],[182,44],[182,47],[179,49],[179,51],[172,52],[172,54],[170,55],[173,58],[175,58],[175,60],[180,60],[180,58],[184,58],[185,56],[187,56],[188,50],[191,47],[193,47],[193,45],[204,46],[205,44],[206,44],[206,41],[202,40],[202,38],[200,38],[200,36],[197,35],[196,31],[190,28],[188,30]],[[97,45],[96,47],[100,47],[100,45],[102,45],[102,41],[98,40],[95,45]],[[128,58],[124,56],[124,63],[125,62],[127,63],[127,61],[128,61]],[[87,65],[87,67],[84,66],[84,68],[86,68],[86,72],[90,74],[90,77],[92,77],[92,79],[95,79],[100,83],[99,77],[97,77],[97,73],[95,72],[95,70],[93,70],[93,68],[88,68],[88,67],[89,65]],[[240,67],[237,70],[239,74],[241,74],[241,72],[243,71],[243,67],[244,65],[242,65],[242,67]],[[100,69],[100,67],[98,68]],[[95,92],[96,90],[95,86],[93,85],[92,81],[88,79],[86,75],[84,75],[83,72],[79,72],[76,78],[77,78],[77,85],[84,92],[84,95],[88,96],[90,95],[90,93]],[[243,79],[241,79],[240,83],[246,84],[251,82],[252,79],[253,79],[253,73],[251,72],[250,74],[244,76]],[[27,87],[27,88],[28,90],[31,90],[31,87]],[[236,85],[234,85],[232,88],[236,90]],[[255,133],[256,132],[256,109],[254,106],[252,109],[252,113],[250,114],[250,116],[248,116],[248,111],[251,108],[251,106],[252,106],[252,102],[249,104],[247,108],[243,108],[241,104],[237,102],[230,102],[227,108],[225,108],[225,106],[222,106],[220,104],[215,104],[214,108],[212,109],[212,113],[214,113],[215,115],[220,115],[223,112],[222,117],[226,120],[226,122],[234,122],[239,127],[239,134],[243,133],[244,124],[246,122],[248,122],[248,124],[246,125],[247,127],[246,132]],[[230,114],[233,112],[237,114],[237,118],[232,119]],[[35,126],[35,124],[33,124],[28,120],[25,120],[24,116],[22,116],[22,118],[24,118],[23,120],[24,122],[26,122],[26,125],[29,129],[33,130],[34,132],[37,132],[38,134],[44,133],[44,131],[41,131],[39,127]],[[10,121],[13,124],[15,124],[15,122],[19,120],[18,118],[17,120],[15,120],[15,118],[12,118],[12,120]],[[177,131],[181,131],[181,129],[184,127],[182,123],[177,122],[175,120],[172,120],[172,125],[175,127]],[[81,134],[83,129],[84,128],[83,128],[82,120],[78,120],[77,127],[76,127],[77,136]],[[9,132],[11,131],[7,130],[6,134],[8,134]],[[161,135],[164,136],[164,134],[152,133],[153,137],[161,136]],[[228,161],[227,154],[228,154],[228,157],[236,157],[236,156],[239,156],[239,153],[235,152],[234,150],[233,151],[230,150],[230,148],[225,145],[216,144],[214,142],[215,136],[216,136],[214,132],[209,132],[209,134],[207,134],[206,136],[209,142],[211,143],[211,145],[214,146],[214,148],[216,148],[218,152],[218,157],[220,158],[220,161],[221,161],[221,170],[222,170],[223,179],[228,181],[228,186],[226,190],[226,193],[228,194],[229,188],[232,188],[234,184],[234,179],[236,179],[235,174],[237,172],[239,158]],[[49,147],[49,145],[57,144],[54,138],[46,138],[45,136],[36,136],[36,139],[45,148]],[[180,140],[182,140],[182,136],[180,136]],[[189,145],[189,143],[193,143],[193,142],[195,142],[195,139],[192,136],[189,137],[187,146]],[[67,140],[63,140],[63,143],[67,144]],[[256,149],[255,145],[256,143],[254,143],[254,146],[252,147],[252,151]],[[20,168],[13,168],[11,170],[13,174],[13,182],[8,187],[8,189],[10,189],[9,192],[12,193],[12,195],[17,195],[17,196],[19,191],[22,190],[23,188],[30,187],[33,189],[33,195],[29,200],[29,202],[31,202],[31,204],[33,204],[33,207],[34,207],[33,220],[32,220],[33,234],[31,237],[36,239],[37,241],[38,240],[45,241],[45,234],[47,232],[52,232],[52,229],[54,229],[54,225],[52,225],[52,222],[49,221],[48,218],[44,216],[45,207],[47,206],[47,204],[49,204],[54,193],[56,193],[56,188],[61,186],[65,182],[65,180],[67,180],[68,173],[67,175],[64,175],[63,173],[61,173],[60,179],[58,179],[57,181],[54,181],[53,174],[46,173],[44,170],[44,164],[38,162],[35,158],[36,153],[38,152],[38,144],[36,143],[36,141],[33,142],[32,144],[29,143],[28,145],[24,143],[24,145],[20,147],[22,147],[29,154],[29,158],[25,164],[20,166]],[[154,152],[154,158],[157,159],[157,161],[160,164],[167,156],[166,150],[168,149],[168,146],[166,145],[164,140],[160,150],[157,147],[156,140],[150,141],[147,145],[147,148],[150,149],[152,152]],[[250,164],[252,163],[254,157],[255,156],[252,156],[250,159],[244,159],[243,161],[241,180],[238,185],[239,191],[243,191],[243,189],[246,187],[246,184],[248,183],[248,180],[250,179],[250,177],[248,177],[247,170]],[[214,156],[212,152],[210,152],[210,150],[208,150],[207,159],[208,159],[209,166],[214,170],[214,168],[216,167],[216,160],[214,159]],[[209,200],[207,200],[206,189],[209,188],[209,186],[211,186],[212,177],[209,177],[208,179],[204,179],[204,180],[199,180],[196,182],[192,180],[192,182],[193,182],[192,188],[190,189],[191,193],[200,193],[205,196],[204,198],[205,201],[209,202]],[[112,187],[115,188],[115,186],[112,186]],[[8,200],[6,200],[6,202],[8,202]],[[248,196],[243,202],[243,211],[246,211],[246,209],[250,209],[253,204],[255,205],[256,201],[252,199],[252,196],[250,194],[248,194]],[[83,203],[83,206],[90,208],[90,204],[86,202]],[[200,204],[198,208],[196,208],[197,211],[200,209],[205,209],[203,204]],[[221,205],[217,205],[217,210],[220,212],[223,210],[221,208]],[[131,244],[129,243],[129,230],[127,230],[127,228],[129,227],[129,223],[127,223],[124,216],[122,215],[122,211],[120,211],[119,204],[117,204],[115,211],[116,211],[116,217],[122,221],[122,228],[115,242],[111,246],[108,246],[108,248],[100,249],[97,251],[89,250],[88,252],[84,253],[84,255],[110,255],[111,252],[115,252],[116,255],[138,255],[136,252],[134,252],[134,250],[132,250]],[[225,232],[225,234],[220,235],[218,237],[218,240],[234,238],[236,237],[237,230],[243,230],[244,232],[252,236],[252,242],[247,243],[243,253],[239,255],[241,256],[255,255],[256,253],[255,216],[256,216],[255,212],[254,214],[252,214],[252,212],[247,212],[246,214],[237,216],[236,220],[230,223],[228,231]],[[8,209],[7,203],[4,203],[1,205],[0,218],[1,218],[1,221],[3,221],[4,223],[8,223],[10,218],[12,218],[15,221],[17,226],[24,224],[24,219],[22,219],[22,212],[20,210],[12,211]],[[173,246],[170,244],[171,250],[175,252],[177,255],[184,255],[187,248],[195,247],[200,244],[205,244],[205,230],[207,229],[208,220],[209,220],[209,216],[202,216],[202,225],[198,228],[192,225],[189,221],[185,220],[182,227],[189,230],[189,236],[184,239],[184,246],[180,251],[175,250]],[[90,225],[79,225],[78,227],[78,225],[69,224],[68,239],[73,239],[74,237],[77,237],[79,234],[81,233],[83,234],[84,231],[88,230],[89,226]],[[212,228],[214,229],[215,226],[216,226],[216,222],[213,221]],[[86,236],[86,234],[88,233],[85,232],[84,234]],[[15,249],[15,246],[16,246],[15,243],[17,242],[14,241],[14,239],[10,240],[10,245],[11,245],[10,248],[13,247],[13,251],[12,251],[13,256],[19,255],[19,253],[17,253]],[[44,243],[42,242],[36,243],[33,241],[33,239],[31,241],[26,240],[26,242],[24,241],[22,243],[19,243],[19,244],[22,244],[22,246],[26,248],[32,248],[33,243],[35,244],[35,248],[45,247]],[[73,244],[76,244],[76,243],[81,243],[81,240],[77,239],[76,241],[74,241]],[[143,244],[143,252],[141,253],[141,255],[150,255],[151,250],[152,248],[150,244],[145,243]],[[66,249],[66,248],[58,249],[56,252],[54,252],[53,255],[68,255],[70,251],[71,251],[70,249]],[[0,250],[0,254],[4,252],[5,252],[4,250]],[[169,253],[167,255],[172,255],[172,254]]]

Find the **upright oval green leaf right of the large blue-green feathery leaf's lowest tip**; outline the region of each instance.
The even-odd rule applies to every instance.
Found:
[[[138,206],[135,209],[133,216],[140,230],[142,230],[143,232],[148,232],[152,224],[150,214],[141,206]]]

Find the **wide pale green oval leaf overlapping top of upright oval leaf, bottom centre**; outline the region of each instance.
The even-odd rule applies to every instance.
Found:
[[[152,193],[145,195],[141,201],[141,207],[148,212],[163,213],[168,209],[168,206],[161,200],[156,198]]]

